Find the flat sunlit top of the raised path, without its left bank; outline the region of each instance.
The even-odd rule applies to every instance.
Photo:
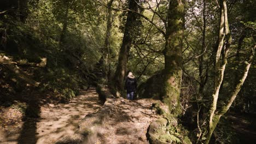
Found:
[[[159,118],[152,103],[161,103],[158,100],[141,99],[127,100],[109,99],[114,105],[110,112],[110,121],[103,124],[98,143],[149,143],[146,137],[149,124]]]

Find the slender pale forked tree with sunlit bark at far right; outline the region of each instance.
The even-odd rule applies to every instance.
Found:
[[[225,44],[224,44],[225,40]],[[234,89],[228,95],[228,101],[223,106],[220,106],[220,109],[217,109],[217,101],[219,97],[219,90],[223,83],[224,71],[226,67],[226,63],[228,62],[228,53],[230,50],[230,46],[232,43],[232,38],[229,30],[229,22],[228,22],[228,10],[226,7],[226,0],[220,1],[220,22],[219,22],[219,36],[218,36],[218,48],[216,51],[216,59],[215,59],[215,76],[214,76],[214,91],[212,94],[212,104],[209,111],[208,116],[208,125],[205,129],[202,142],[209,143],[211,140],[212,133],[216,128],[216,125],[219,122],[220,117],[229,110],[231,104],[236,98],[236,95],[240,91],[243,82],[248,74],[248,70],[251,66],[252,59],[254,56],[255,44],[252,47],[251,56],[249,56],[248,62],[246,62],[246,67],[243,71],[242,77],[236,83]],[[221,53],[223,51],[222,58]]]

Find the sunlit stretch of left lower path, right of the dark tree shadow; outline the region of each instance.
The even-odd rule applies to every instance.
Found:
[[[38,125],[38,142],[53,143],[63,136],[72,135],[78,128],[79,121],[86,115],[100,109],[98,95],[94,91],[82,92],[69,104],[59,104],[55,107],[44,107],[42,121]],[[49,112],[53,109],[53,112]]]

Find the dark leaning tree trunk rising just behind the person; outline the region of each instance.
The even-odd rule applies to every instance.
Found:
[[[133,37],[132,35],[133,29],[137,27],[135,25],[136,20],[138,18],[137,14],[132,11],[138,11],[138,0],[129,0],[129,9],[126,23],[125,23],[125,31],[123,37],[123,43],[121,45],[119,58],[118,58],[118,65],[117,70],[115,71],[114,75],[114,88],[117,91],[122,91],[124,89],[123,81],[125,78],[125,74],[127,72],[127,62],[129,57],[129,51],[132,44]],[[118,94],[117,94],[118,95]]]

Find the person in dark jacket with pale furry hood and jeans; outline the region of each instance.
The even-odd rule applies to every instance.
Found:
[[[125,89],[127,89],[127,99],[133,100],[133,94],[136,91],[137,82],[135,76],[129,71],[126,81],[125,81]]]

